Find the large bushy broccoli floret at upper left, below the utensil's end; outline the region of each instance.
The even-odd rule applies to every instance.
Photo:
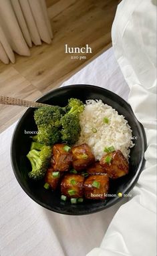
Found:
[[[34,120],[39,133],[33,140],[49,146],[58,142],[61,137],[59,127],[62,114],[63,110],[59,106],[44,106],[35,110]]]

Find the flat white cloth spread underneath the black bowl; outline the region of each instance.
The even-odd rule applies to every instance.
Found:
[[[129,88],[109,49],[63,85],[94,84],[128,98]],[[0,134],[0,255],[84,256],[99,247],[123,199],[114,207],[85,216],[53,213],[33,202],[11,168],[10,143],[15,124]]]

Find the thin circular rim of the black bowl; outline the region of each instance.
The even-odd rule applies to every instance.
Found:
[[[69,89],[69,88],[75,88],[79,86],[80,89],[81,87],[85,87],[86,88],[95,88],[95,89],[101,89],[103,90],[104,92],[108,92],[109,94],[113,95],[113,96],[116,96],[116,98],[119,98],[119,100],[123,101],[124,104],[126,104],[126,106],[128,106],[128,110],[130,111],[130,113],[134,116],[134,120],[136,121],[136,124],[138,126],[138,131],[140,133],[140,138],[141,140],[143,141],[144,145],[142,147],[142,160],[140,161],[140,164],[138,166],[138,170],[136,171],[136,174],[132,177],[132,180],[131,182],[129,183],[128,186],[126,186],[126,188],[124,188],[124,191],[123,191],[123,194],[128,194],[130,192],[130,190],[132,190],[132,188],[135,186],[136,182],[138,181],[138,178],[144,168],[144,164],[146,162],[146,160],[144,159],[144,152],[146,151],[146,147],[147,147],[147,141],[146,141],[146,133],[145,133],[145,130],[144,130],[144,127],[142,126],[142,124],[138,121],[138,119],[136,118],[130,104],[128,102],[126,102],[126,100],[124,100],[122,97],[120,97],[118,94],[106,89],[106,88],[102,88],[100,86],[94,86],[94,85],[89,85],[89,84],[70,84],[68,86],[60,86],[59,88],[55,88],[54,90],[50,90],[49,92],[43,94],[43,96],[41,96],[40,98],[37,98],[37,100],[35,100],[35,102],[44,102],[45,101],[45,98],[48,98],[49,95],[51,95],[53,92],[57,92],[57,91],[60,91],[60,90],[63,90],[65,88]],[[45,209],[48,209],[50,211],[53,211],[55,213],[60,213],[60,214],[63,214],[63,215],[89,215],[89,214],[92,214],[92,213],[98,213],[100,211],[104,211],[105,209],[108,209],[109,207],[112,207],[113,205],[115,205],[116,203],[120,202],[123,197],[113,197],[113,199],[111,201],[108,201],[108,204],[104,204],[102,205],[101,207],[98,207],[98,209],[90,209],[90,210],[87,210],[85,209],[84,211],[82,211],[81,213],[73,213],[73,212],[70,212],[70,211],[62,211],[62,210],[57,210],[57,209],[51,209],[51,207],[45,203],[42,203],[41,201],[39,201],[38,199],[35,199],[35,197],[33,195],[31,195],[31,193],[29,193],[29,191],[27,191],[27,188],[25,188],[23,182],[21,182],[21,179],[19,177],[19,175],[17,174],[16,172],[16,161],[15,159],[13,158],[13,148],[14,148],[14,140],[15,140],[15,136],[16,136],[16,132],[17,132],[17,128],[19,126],[19,124],[21,123],[21,121],[23,120],[26,112],[28,112],[31,108],[27,108],[27,110],[25,110],[25,112],[23,113],[23,115],[21,116],[21,118],[19,118],[15,128],[14,128],[14,131],[13,131],[13,134],[12,134],[12,138],[11,138],[11,148],[10,148],[10,158],[11,158],[11,166],[13,168],[13,172],[15,174],[15,177],[17,179],[17,182],[19,183],[19,185],[21,186],[21,188],[23,188],[23,190],[25,191],[25,193],[33,200],[35,201],[35,203],[37,203],[38,205],[41,205],[42,207],[44,207]],[[118,111],[118,110],[117,110]],[[99,202],[99,201],[98,201]],[[101,201],[102,202],[102,201]],[[105,202],[105,201],[104,201]],[[89,212],[90,211],[90,212]]]

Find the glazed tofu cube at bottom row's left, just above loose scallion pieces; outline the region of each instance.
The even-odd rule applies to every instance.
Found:
[[[61,194],[69,198],[84,196],[84,176],[79,174],[65,174],[61,180]]]

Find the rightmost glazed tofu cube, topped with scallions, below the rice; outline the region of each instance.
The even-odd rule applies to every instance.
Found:
[[[100,164],[106,170],[106,173],[110,178],[115,179],[128,174],[128,161],[120,150],[102,156]]]

